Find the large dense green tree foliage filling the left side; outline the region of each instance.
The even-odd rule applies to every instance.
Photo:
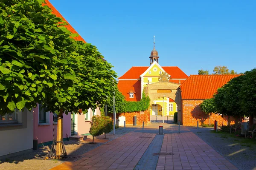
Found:
[[[116,73],[96,47],[73,40],[44,0],[0,3],[0,114],[42,103],[47,111],[95,109]]]

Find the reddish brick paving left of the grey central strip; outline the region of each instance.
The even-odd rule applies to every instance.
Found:
[[[130,132],[90,150],[78,161],[58,165],[52,170],[132,170],[154,136],[154,133]]]

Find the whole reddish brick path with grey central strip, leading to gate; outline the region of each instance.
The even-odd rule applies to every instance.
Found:
[[[163,124],[161,124],[163,125]],[[164,124],[162,139],[158,125],[136,129],[105,143],[74,162],[65,162],[52,170],[236,170],[237,168],[201,138],[177,125]],[[159,143],[157,143],[159,142]],[[152,153],[159,152],[157,156]]]

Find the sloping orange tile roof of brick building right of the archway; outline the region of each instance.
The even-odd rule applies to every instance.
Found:
[[[182,99],[209,99],[230,79],[239,75],[190,75],[180,85]]]

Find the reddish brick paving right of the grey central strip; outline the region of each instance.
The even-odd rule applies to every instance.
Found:
[[[156,170],[237,170],[194,133],[165,134]]]

